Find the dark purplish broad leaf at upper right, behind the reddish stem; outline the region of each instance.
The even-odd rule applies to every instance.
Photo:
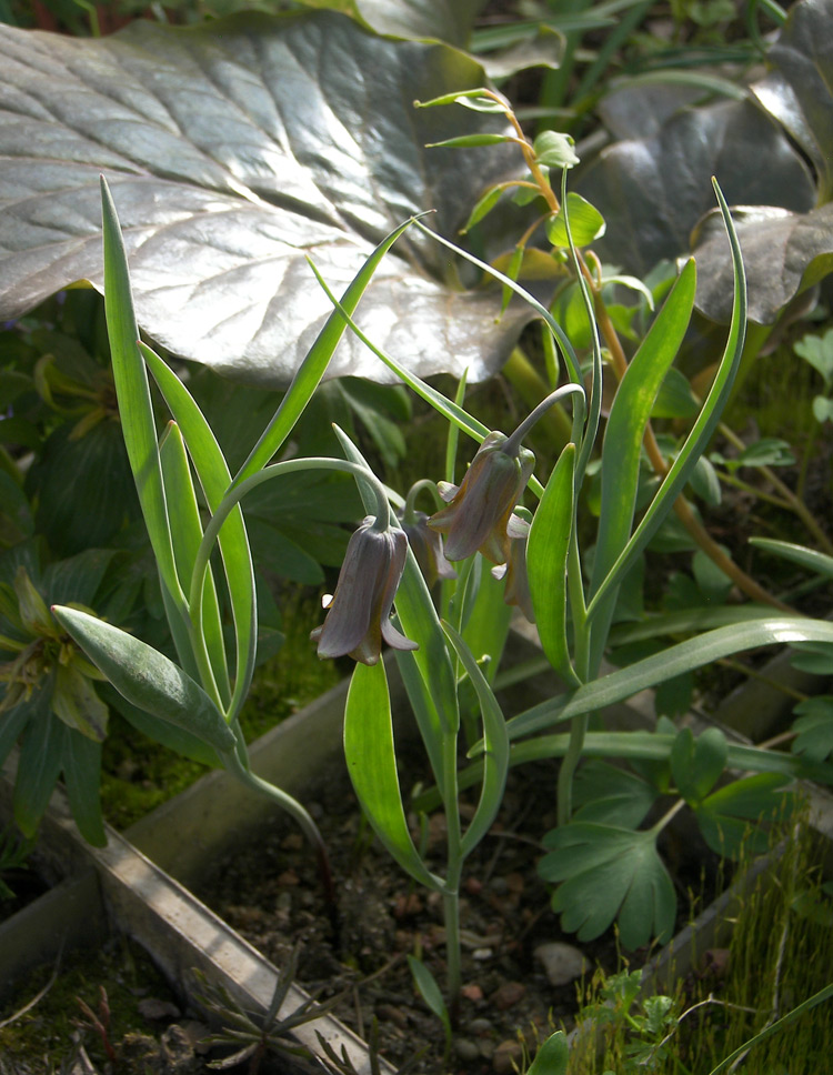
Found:
[[[636,275],[688,252],[691,230],[712,209],[712,175],[730,205],[774,204],[801,213],[815,200],[803,161],[752,103],[684,109],[655,134],[602,151],[579,177],[578,189],[608,222],[593,248]],[[723,253],[729,267],[725,240]],[[747,268],[749,261],[744,245]],[[700,259],[697,268],[702,280]],[[731,304],[731,282],[727,292]]]

